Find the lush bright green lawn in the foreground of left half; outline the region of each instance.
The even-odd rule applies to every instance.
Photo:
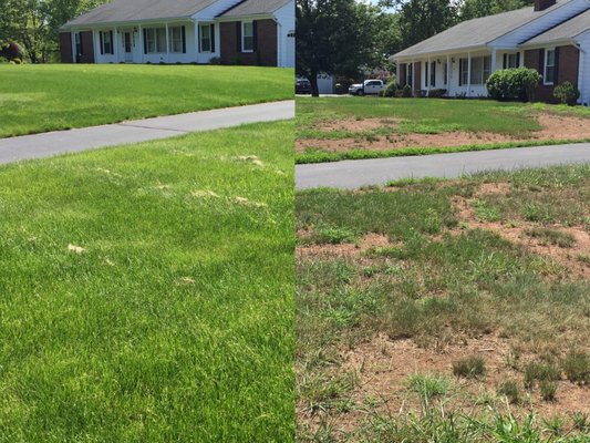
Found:
[[[292,146],[282,122],[0,167],[1,442],[293,440]]]

